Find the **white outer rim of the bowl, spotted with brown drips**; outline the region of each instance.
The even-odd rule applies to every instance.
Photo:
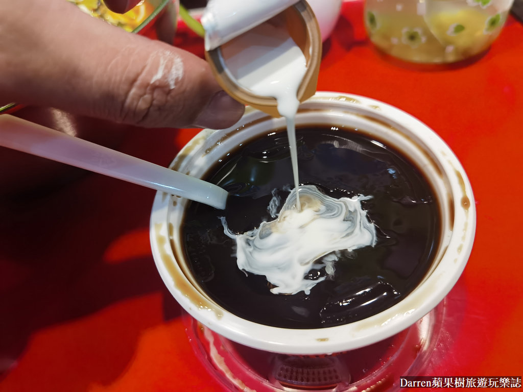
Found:
[[[156,267],[172,295],[180,305],[203,325],[223,337],[260,350],[286,354],[329,354],[364,347],[401,332],[430,312],[448,294],[459,279],[467,264],[475,235],[475,204],[472,188],[463,167],[450,147],[427,125],[410,114],[384,102],[354,94],[322,91],[305,101],[301,109],[324,106],[325,109],[339,108],[356,110],[371,116],[376,121],[385,121],[398,129],[415,130],[423,139],[424,145],[438,158],[444,174],[456,193],[452,198],[454,206],[454,226],[449,234],[446,255],[441,258],[433,271],[413,292],[399,303],[385,309],[377,315],[336,327],[316,329],[287,329],[260,325],[242,319],[210,302],[210,299],[183,274],[170,246],[172,233],[169,232],[169,207],[179,203],[179,199],[170,199],[163,192],[157,192],[151,213],[151,246]],[[213,140],[214,136],[233,132],[266,114],[247,109],[238,123],[226,130],[202,130],[195,136],[173,160],[171,167],[178,167],[180,160],[194,151],[196,144]],[[269,121],[270,123],[270,121]],[[458,197],[461,194],[461,197]],[[467,198],[465,208],[463,200]],[[465,216],[466,215],[466,216]],[[458,227],[456,227],[458,222]],[[160,240],[161,239],[161,240]],[[176,282],[167,271],[164,262],[174,263],[180,273]],[[173,268],[171,266],[170,268]],[[187,291],[188,287],[190,293]],[[196,300],[195,300],[196,298]],[[421,301],[420,298],[423,298]]]

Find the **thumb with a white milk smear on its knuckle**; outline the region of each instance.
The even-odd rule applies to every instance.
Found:
[[[12,3],[0,0],[0,31],[10,32],[0,41],[0,102],[146,127],[225,128],[243,114],[195,55],[110,26],[64,0]]]

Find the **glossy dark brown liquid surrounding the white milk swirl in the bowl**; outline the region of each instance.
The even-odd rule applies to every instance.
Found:
[[[346,324],[401,301],[423,279],[439,242],[439,209],[427,180],[401,154],[357,132],[301,128],[297,139],[301,184],[334,198],[372,196],[361,205],[377,226],[376,246],[345,251],[334,277],[309,295],[272,294],[265,276],[238,269],[234,240],[223,233],[219,217],[244,233],[273,219],[267,206],[274,189],[280,207],[285,202],[292,168],[286,134],[277,132],[231,152],[209,172],[208,181],[231,193],[225,211],[189,206],[183,240],[202,289],[237,316],[283,328]],[[313,270],[307,278],[322,275],[324,270]]]

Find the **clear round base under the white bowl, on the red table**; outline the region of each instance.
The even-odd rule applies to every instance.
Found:
[[[401,376],[422,375],[447,312],[447,298],[388,339],[330,355],[277,354],[225,339],[185,314],[194,351],[227,390],[257,392],[396,390]],[[368,389],[370,388],[370,389]]]

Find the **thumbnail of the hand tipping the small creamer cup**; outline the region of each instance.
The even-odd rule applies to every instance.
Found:
[[[240,120],[244,111],[242,103],[235,101],[225,91],[218,91],[200,112],[194,125],[200,128],[227,128]]]

